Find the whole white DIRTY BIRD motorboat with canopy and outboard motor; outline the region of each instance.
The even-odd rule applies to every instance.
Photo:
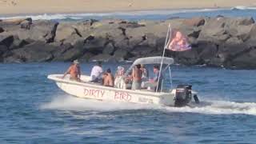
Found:
[[[71,81],[68,77],[62,78],[63,74],[50,74],[49,79],[54,80],[58,87],[65,91],[67,94],[71,94],[78,98],[91,98],[101,101],[112,101],[112,102],[134,102],[141,104],[156,104],[164,106],[188,106],[193,101],[198,103],[197,93],[191,90],[190,85],[178,85],[177,88],[172,89],[171,86],[171,71],[170,65],[174,63],[173,58],[166,57],[149,57],[149,58],[138,58],[126,70],[126,74],[137,64],[162,64],[165,66],[162,68],[162,74],[168,74],[170,78],[163,78],[160,91],[146,87],[142,90],[127,90],[125,83],[121,86],[120,83],[124,82],[123,78],[114,87],[102,86],[97,82],[90,82],[90,76],[82,75],[82,82]],[[162,67],[161,66],[161,67]],[[170,82],[169,85],[165,85],[167,80]],[[169,87],[168,87],[169,86]]]

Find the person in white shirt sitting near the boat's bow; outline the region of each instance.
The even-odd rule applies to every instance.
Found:
[[[90,72],[90,82],[100,82],[102,80],[102,73],[102,62],[97,62]]]

